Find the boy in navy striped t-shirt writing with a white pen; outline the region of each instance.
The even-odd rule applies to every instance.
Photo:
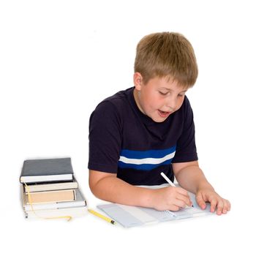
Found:
[[[177,33],[149,34],[135,58],[134,88],[105,99],[89,124],[89,186],[102,200],[178,211],[197,203],[226,214],[228,200],[208,183],[197,162],[192,108],[185,96],[197,79],[192,45]],[[147,189],[166,181],[181,187]]]

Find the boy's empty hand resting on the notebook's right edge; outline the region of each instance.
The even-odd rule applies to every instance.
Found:
[[[211,212],[216,210],[218,215],[227,214],[227,211],[230,211],[230,202],[220,197],[213,189],[198,190],[196,200],[202,209],[206,208],[206,202],[211,203]]]

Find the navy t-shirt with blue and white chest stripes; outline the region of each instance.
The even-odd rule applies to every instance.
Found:
[[[132,185],[174,179],[171,163],[197,160],[195,126],[187,97],[160,123],[136,105],[134,88],[119,91],[97,105],[89,121],[89,169],[116,173]]]

